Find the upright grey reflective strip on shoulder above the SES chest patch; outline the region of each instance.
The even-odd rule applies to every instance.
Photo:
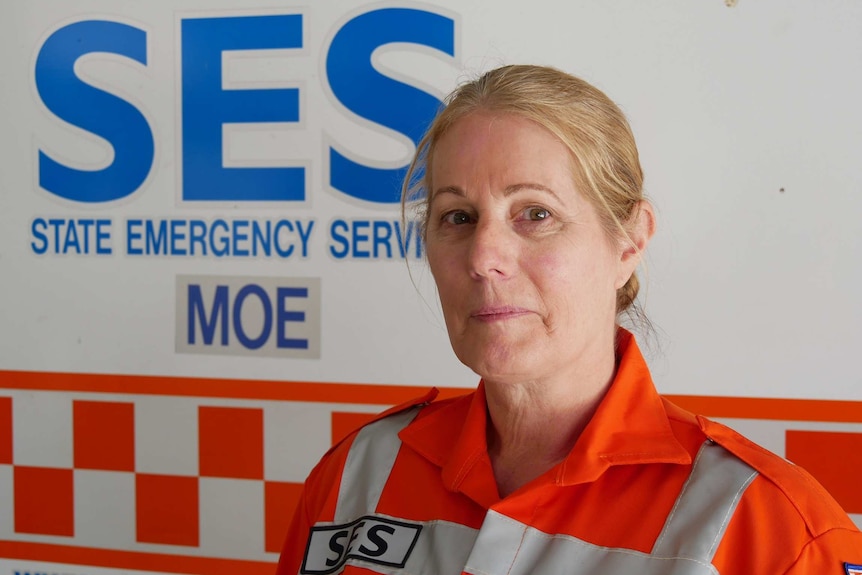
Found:
[[[398,432],[407,427],[417,413],[418,407],[408,409],[359,430],[344,462],[335,523],[346,523],[377,509],[380,494],[401,449]]]

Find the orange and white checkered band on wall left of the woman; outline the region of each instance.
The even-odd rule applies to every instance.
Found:
[[[311,467],[382,407],[4,390],[0,539],[274,561]]]

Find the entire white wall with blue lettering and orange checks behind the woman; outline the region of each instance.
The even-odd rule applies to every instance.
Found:
[[[333,441],[474,386],[397,206],[356,196],[394,193],[416,110],[521,62],[630,118],[659,388],[862,525],[860,26],[849,0],[4,4],[0,572],[271,572]]]

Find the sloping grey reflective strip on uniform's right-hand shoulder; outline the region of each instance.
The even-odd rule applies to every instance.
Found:
[[[712,562],[727,524],[757,472],[735,455],[706,441],[697,453],[652,554]]]

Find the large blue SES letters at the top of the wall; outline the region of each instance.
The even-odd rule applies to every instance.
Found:
[[[179,25],[179,125],[182,202],[303,202],[307,167],[229,167],[223,158],[227,124],[292,124],[303,119],[302,87],[229,89],[223,55],[229,51],[306,48],[302,13],[183,18]],[[86,82],[76,63],[107,53],[146,67],[152,47],[147,31],[110,20],[81,20],[54,31],[38,50],[35,85],[57,118],[106,142],[110,163],[95,170],[70,166],[38,150],[38,183],[47,192],[81,204],[103,204],[140,189],[153,169],[158,142],[144,111],[121,96]],[[452,18],[415,8],[380,8],[354,16],[325,50],[329,90],[349,112],[397,132],[415,145],[437,111],[437,97],[379,72],[375,50],[409,44],[455,56]],[[404,168],[351,159],[337,143],[328,146],[324,179],[347,197],[374,204],[398,201]],[[297,162],[299,163],[299,162]]]

